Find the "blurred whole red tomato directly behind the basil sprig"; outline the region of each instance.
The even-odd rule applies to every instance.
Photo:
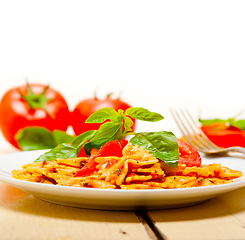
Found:
[[[125,102],[122,102],[119,98],[112,99],[109,96],[104,100],[99,100],[97,98],[86,99],[78,103],[72,112],[72,127],[76,135],[80,135],[83,132],[89,130],[98,130],[102,123],[85,123],[87,118],[92,114],[104,107],[114,108],[116,111],[118,109],[126,110],[131,106]],[[132,119],[134,125],[132,129],[135,128],[135,119]]]

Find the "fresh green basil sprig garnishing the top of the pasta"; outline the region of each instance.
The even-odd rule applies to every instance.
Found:
[[[176,167],[179,160],[179,147],[175,135],[166,131],[135,133],[132,130],[133,121],[131,118],[149,122],[164,119],[161,114],[150,112],[141,107],[128,108],[125,112],[122,109],[117,112],[113,108],[102,108],[91,114],[86,120],[86,123],[103,123],[98,130],[88,131],[77,136],[70,145],[61,144],[51,149],[35,162],[51,161],[57,157],[77,157],[82,147],[89,155],[92,148],[100,148],[111,140],[121,141],[128,135],[134,135],[130,142],[144,147],[160,160]]]

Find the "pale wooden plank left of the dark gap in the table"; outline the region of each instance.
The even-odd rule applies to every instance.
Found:
[[[0,183],[4,240],[152,239],[134,212],[99,211],[41,201]]]

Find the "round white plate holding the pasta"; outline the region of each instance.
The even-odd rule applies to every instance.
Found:
[[[211,187],[184,189],[89,189],[55,186],[17,180],[11,177],[11,171],[33,162],[41,151],[18,152],[0,156],[0,181],[33,194],[39,199],[81,208],[106,210],[155,210],[190,206],[210,198],[245,186],[245,178],[236,179],[234,183]],[[203,163],[221,163],[245,175],[245,159],[237,157],[206,158]]]

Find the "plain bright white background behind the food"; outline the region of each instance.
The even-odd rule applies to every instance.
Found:
[[[71,110],[121,92],[165,117],[144,130],[177,131],[176,104],[232,117],[245,107],[244,13],[245,1],[0,0],[0,97],[27,78]]]

